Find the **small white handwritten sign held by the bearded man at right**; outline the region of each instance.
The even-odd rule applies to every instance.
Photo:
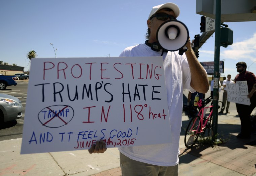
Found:
[[[236,84],[227,83],[227,96],[229,102],[238,104],[250,105],[250,99],[247,97],[249,94],[247,81],[236,81]]]

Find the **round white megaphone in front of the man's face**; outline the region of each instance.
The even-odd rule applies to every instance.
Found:
[[[164,22],[157,30],[157,42],[167,51],[178,51],[182,55],[187,49],[184,46],[188,42],[189,32],[187,26],[178,21]]]

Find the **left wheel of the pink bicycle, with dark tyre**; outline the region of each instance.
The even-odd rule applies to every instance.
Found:
[[[200,133],[196,134],[198,127],[200,126],[200,117],[196,116],[192,118],[188,124],[185,132],[184,143],[187,148],[191,148],[195,143]],[[200,127],[199,127],[200,129]]]

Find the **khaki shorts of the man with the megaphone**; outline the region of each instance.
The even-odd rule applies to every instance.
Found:
[[[157,166],[132,160],[120,153],[122,176],[178,176],[179,164],[176,166]]]

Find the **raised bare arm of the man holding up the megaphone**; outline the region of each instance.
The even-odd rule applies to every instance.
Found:
[[[208,76],[205,69],[196,58],[194,51],[191,49],[190,39],[188,40],[186,47],[188,50],[185,54],[191,73],[190,86],[197,92],[206,93],[209,89]]]

